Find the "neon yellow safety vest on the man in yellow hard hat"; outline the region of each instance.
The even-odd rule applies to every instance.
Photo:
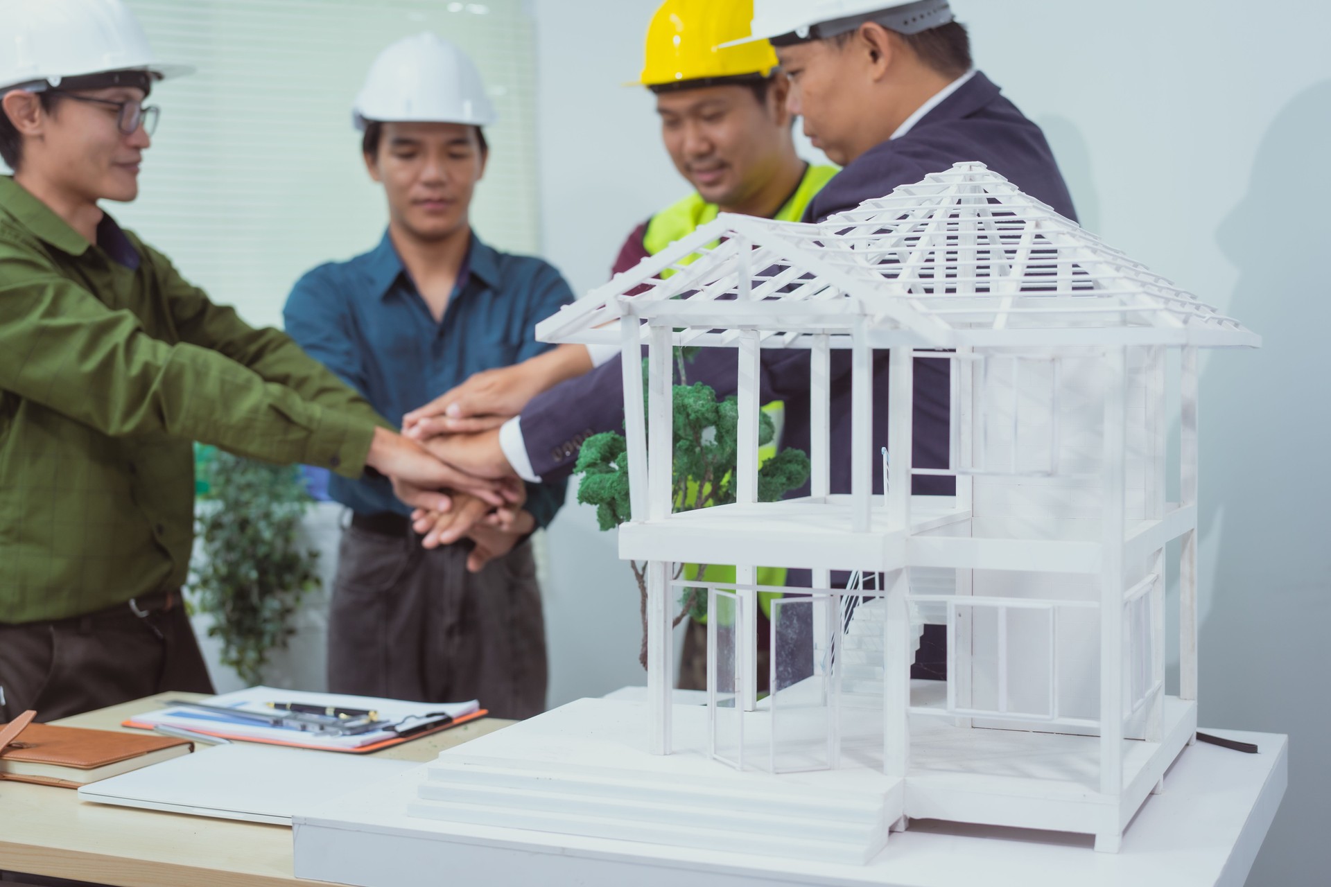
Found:
[[[799,222],[804,218],[804,209],[813,199],[813,195],[823,190],[823,186],[840,172],[836,166],[813,166],[812,164],[804,172],[804,178],[800,180],[799,188],[791,194],[791,198],[781,205],[781,209],[776,211],[772,218],[781,222]],[[716,203],[708,203],[696,191],[689,194],[681,201],[671,203],[664,210],[658,213],[647,222],[647,233],[643,235],[643,249],[650,254],[655,255],[663,249],[673,243],[681,237],[687,237],[696,231],[703,225],[707,225],[716,218],[720,209]],[[692,262],[696,257],[685,258],[687,262]],[[668,277],[673,274],[671,269],[662,271],[662,277]],[[763,407],[763,412],[768,414],[776,423],[777,430],[781,427],[781,420],[785,415],[785,404],[776,402],[769,403]],[[776,444],[768,444],[759,451],[759,464],[767,461],[776,455]],[[692,495],[692,484],[689,495]],[[728,564],[708,564],[707,569],[699,576],[699,564],[685,564],[684,565],[684,578],[692,578],[703,582],[733,582],[735,581],[735,567]],[[785,585],[785,568],[784,567],[759,567],[757,568],[757,584],[759,585]],[[763,613],[771,617],[772,614],[772,598],[780,597],[776,593],[759,593],[759,606],[761,606]]]

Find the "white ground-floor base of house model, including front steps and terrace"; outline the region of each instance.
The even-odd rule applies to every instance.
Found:
[[[933,689],[917,686],[921,697]],[[763,714],[749,717],[761,722]],[[902,815],[1117,835],[1195,727],[1191,703],[1171,699],[1165,714],[1166,742],[1129,743],[1125,794],[1107,798],[1097,791],[1093,737],[966,730],[920,718],[902,783],[882,775],[878,742],[856,739],[855,725],[878,714],[849,710],[841,769],[772,777],[707,757],[704,706],[675,706],[676,735],[696,742],[651,755],[643,750],[644,703],[579,699],[297,822],[310,839],[329,830],[351,843],[395,835],[433,842],[439,852],[458,836],[480,834],[474,830],[499,828],[544,832],[542,844],[610,840],[836,867],[876,858]],[[749,754],[755,763],[765,761],[761,745]]]

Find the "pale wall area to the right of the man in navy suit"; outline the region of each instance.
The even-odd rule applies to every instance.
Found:
[[[1319,882],[1331,483],[1308,468],[1331,449],[1314,363],[1331,328],[1331,184],[1314,166],[1331,154],[1331,8],[1275,23],[1240,0],[958,7],[980,65],[1046,128],[1086,226],[1264,336],[1203,363],[1201,723],[1291,734],[1248,883]]]

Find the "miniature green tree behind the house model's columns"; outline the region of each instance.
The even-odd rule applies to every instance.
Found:
[[[683,366],[680,366],[683,374]],[[673,387],[673,511],[693,511],[735,501],[735,460],[739,444],[739,404],[735,395],[719,400],[716,391],[701,382]],[[772,442],[775,427],[767,414],[759,414],[759,445]],[[628,445],[616,432],[594,435],[583,443],[574,473],[582,476],[578,501],[596,507],[603,531],[630,519]],[[781,449],[757,472],[759,501],[776,501],[787,491],[804,485],[809,477],[809,457],[801,449]],[[639,661],[647,668],[647,565],[628,563],[638,580],[643,617],[643,646]],[[684,565],[680,564],[675,578]],[[699,567],[701,576],[705,567]],[[680,598],[675,625],[688,614],[707,613],[701,589],[687,588]]]

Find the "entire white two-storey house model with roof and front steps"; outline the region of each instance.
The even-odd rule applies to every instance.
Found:
[[[1256,335],[981,164],[817,225],[723,214],[538,335],[647,346],[646,378],[623,360],[619,529],[620,556],[648,564],[647,701],[582,699],[446,751],[401,798],[403,822],[840,863],[910,818],[1118,848],[1197,729],[1198,350]],[[735,504],[671,513],[677,346],[735,350]],[[811,495],[777,503],[756,495],[763,348],[809,350]],[[851,352],[848,452],[829,445],[833,348]],[[946,468],[912,465],[916,360],[950,366]],[[832,460],[852,463],[849,493],[831,493]],[[910,495],[922,473],[956,495]],[[736,564],[735,584],[708,586],[705,706],[671,696],[671,617],[699,586],[677,563]],[[781,589],[755,582],[759,565],[813,576],[772,605],[763,699],[756,596]],[[921,621],[946,626],[945,682],[910,681]]]

